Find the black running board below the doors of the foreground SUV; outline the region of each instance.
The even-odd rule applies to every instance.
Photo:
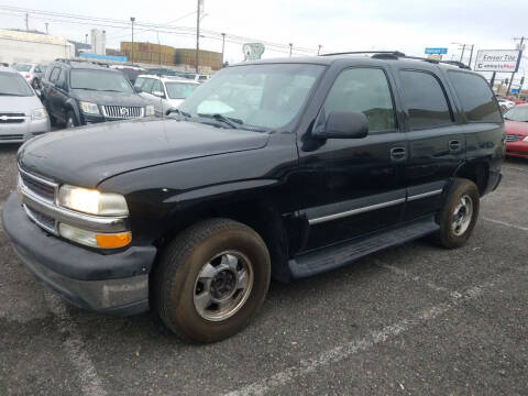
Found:
[[[439,230],[435,218],[416,220],[403,227],[393,228],[353,241],[342,242],[321,250],[299,254],[288,261],[294,278],[307,277],[339,268],[367,254],[396,246]]]

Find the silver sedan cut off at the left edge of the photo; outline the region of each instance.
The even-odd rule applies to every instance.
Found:
[[[50,132],[50,118],[33,89],[10,67],[0,66],[0,143],[21,143]]]

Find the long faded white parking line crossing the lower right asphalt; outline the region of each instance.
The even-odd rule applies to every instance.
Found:
[[[261,396],[274,391],[280,386],[284,386],[295,378],[315,373],[324,366],[343,361],[361,351],[366,351],[370,348],[383,343],[398,334],[406,332],[424,322],[436,319],[439,316],[448,312],[457,306],[475,299],[484,294],[488,288],[492,288],[496,284],[505,280],[505,275],[515,271],[524,271],[525,267],[515,268],[501,275],[493,276],[490,280],[473,286],[464,292],[452,292],[449,294],[449,300],[447,302],[439,304],[431,308],[424,309],[417,315],[408,319],[403,319],[394,324],[386,326],[382,330],[372,331],[363,338],[359,338],[338,345],[331,350],[323,351],[319,355],[312,359],[301,360],[298,365],[290,366],[277,374],[274,374],[267,378],[257,381],[253,384],[244,386],[238,391],[227,393],[224,396]]]

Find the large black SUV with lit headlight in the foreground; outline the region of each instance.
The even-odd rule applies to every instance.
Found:
[[[400,53],[244,63],[172,118],[86,132],[20,148],[14,250],[74,304],[152,307],[199,342],[241,330],[272,276],[429,234],[462,245],[505,154],[482,76]]]

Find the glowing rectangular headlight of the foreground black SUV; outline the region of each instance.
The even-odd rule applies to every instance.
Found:
[[[90,215],[129,215],[127,200],[122,195],[100,193],[97,189],[64,185],[58,190],[57,201],[62,207]]]

